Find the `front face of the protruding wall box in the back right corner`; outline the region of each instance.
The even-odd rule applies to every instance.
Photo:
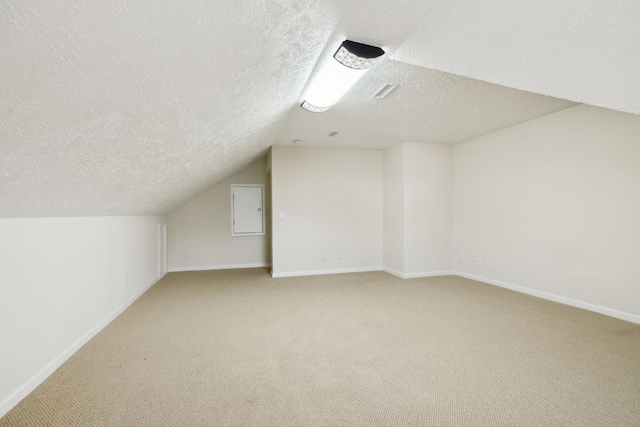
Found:
[[[405,275],[453,269],[453,147],[404,144]]]

